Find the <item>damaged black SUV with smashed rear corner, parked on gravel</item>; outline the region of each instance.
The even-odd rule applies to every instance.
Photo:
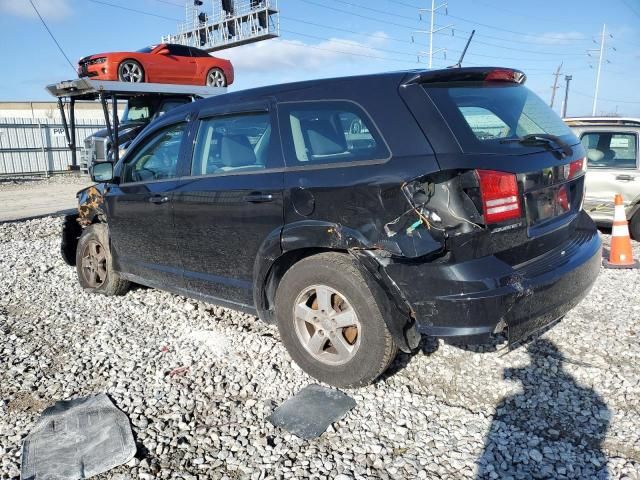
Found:
[[[88,291],[135,282],[277,322],[337,386],[373,381],[421,334],[520,342],[601,262],[584,148],[524,81],[398,72],[179,107],[94,167],[63,255]]]

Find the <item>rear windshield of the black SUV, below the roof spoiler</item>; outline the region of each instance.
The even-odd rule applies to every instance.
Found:
[[[505,142],[551,134],[575,145],[578,139],[549,106],[528,88],[512,83],[429,84],[425,90],[442,112],[465,152],[541,150],[539,145]],[[523,152],[524,153],[524,152]]]

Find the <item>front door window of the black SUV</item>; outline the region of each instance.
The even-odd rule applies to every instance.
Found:
[[[124,183],[174,178],[184,131],[180,123],[152,135],[125,165]]]

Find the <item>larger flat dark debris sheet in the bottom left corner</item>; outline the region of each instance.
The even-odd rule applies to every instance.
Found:
[[[136,445],[127,416],[104,394],[47,408],[22,444],[22,480],[77,480],[127,463]]]

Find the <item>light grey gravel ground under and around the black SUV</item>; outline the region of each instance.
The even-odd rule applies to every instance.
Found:
[[[425,340],[302,441],[266,421],[313,383],[276,328],[151,289],[85,294],[59,230],[0,225],[2,479],[18,477],[46,406],[99,392],[138,443],[103,479],[640,479],[639,270],[602,270],[560,324],[508,354]]]

